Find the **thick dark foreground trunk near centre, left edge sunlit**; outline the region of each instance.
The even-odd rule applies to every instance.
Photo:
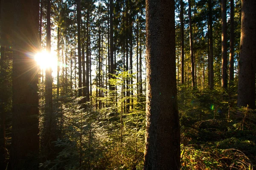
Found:
[[[180,169],[174,4],[174,0],[146,0],[144,170]]]

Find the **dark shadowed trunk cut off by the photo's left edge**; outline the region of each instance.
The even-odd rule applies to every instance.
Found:
[[[0,41],[0,167],[6,169],[6,113],[11,112],[9,105],[12,99],[12,80],[11,68],[9,61],[12,58],[12,2],[2,0],[0,2],[0,18],[1,18],[1,41]],[[8,115],[8,114],[7,114]]]

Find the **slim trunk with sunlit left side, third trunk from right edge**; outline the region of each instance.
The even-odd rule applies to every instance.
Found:
[[[221,87],[227,89],[227,0],[221,0]]]

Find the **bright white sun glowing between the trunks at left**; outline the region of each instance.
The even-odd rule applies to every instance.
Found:
[[[41,69],[54,69],[58,65],[57,57],[53,52],[49,53],[47,51],[40,51],[35,54],[35,61]]]

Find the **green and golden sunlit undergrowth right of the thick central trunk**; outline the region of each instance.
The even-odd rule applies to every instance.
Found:
[[[252,170],[256,164],[255,111],[236,108],[221,89],[179,87],[181,169]]]

